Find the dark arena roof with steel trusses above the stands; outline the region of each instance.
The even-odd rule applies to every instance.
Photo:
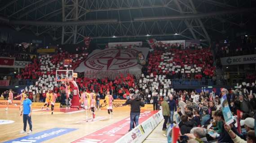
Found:
[[[62,44],[87,36],[147,34],[210,42],[256,17],[256,0],[1,0],[0,5],[1,23],[47,33]]]

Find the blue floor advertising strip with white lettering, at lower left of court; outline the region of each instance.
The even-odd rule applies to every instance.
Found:
[[[21,138],[6,141],[4,143],[41,143],[49,139],[56,138],[57,136],[64,135],[77,129],[73,128],[53,128],[44,130],[32,135],[27,135]]]

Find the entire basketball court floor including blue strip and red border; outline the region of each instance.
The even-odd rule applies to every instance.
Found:
[[[141,110],[139,122],[144,122],[157,111]],[[32,135],[20,134],[23,129],[22,117],[18,108],[4,111],[0,108],[0,142],[1,143],[114,143],[128,133],[129,109],[115,109],[109,118],[106,109],[97,110],[92,120],[88,111],[88,119],[84,109],[55,109],[51,115],[49,110],[33,109]],[[7,122],[11,120],[14,122]],[[4,124],[6,123],[6,124]],[[26,130],[29,130],[27,124]]]

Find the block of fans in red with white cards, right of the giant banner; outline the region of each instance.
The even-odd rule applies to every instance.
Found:
[[[149,54],[147,72],[154,75],[168,75],[169,78],[201,79],[212,78],[212,52],[203,50],[154,50]]]

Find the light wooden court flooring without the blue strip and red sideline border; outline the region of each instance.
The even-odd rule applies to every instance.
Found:
[[[8,111],[5,111],[4,109],[5,108],[0,108],[0,120],[13,120],[14,123],[0,125],[0,143],[26,136],[27,134],[19,133],[21,130],[23,130],[23,121],[22,116],[19,116],[19,109],[9,108]],[[82,109],[79,111],[77,109],[55,109],[54,114],[51,115],[49,108],[49,111],[46,109],[43,111],[40,109],[33,109],[31,119],[33,134],[56,127],[78,129],[44,141],[44,143],[70,143],[75,139],[84,137],[85,135],[93,133],[96,130],[102,129],[104,126],[108,126],[129,116],[129,109],[116,109],[113,110],[112,118],[109,119],[107,110],[102,109],[96,111],[96,118],[94,119],[95,121],[86,122],[88,121],[86,120],[86,113]],[[88,117],[91,118],[89,111]],[[26,126],[26,130],[29,130],[28,124]]]

